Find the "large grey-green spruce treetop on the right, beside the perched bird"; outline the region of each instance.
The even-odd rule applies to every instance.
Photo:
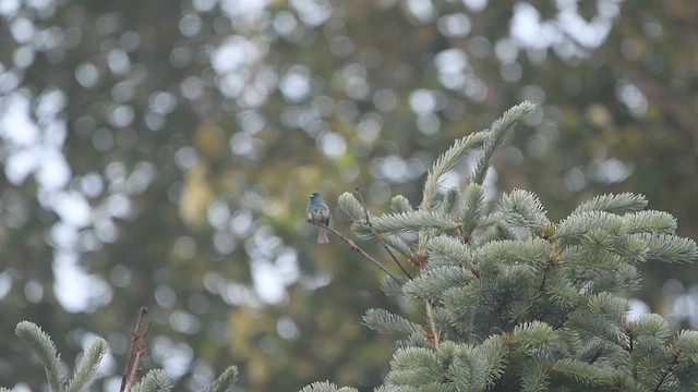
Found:
[[[376,391],[698,390],[698,332],[672,333],[654,314],[630,322],[618,295],[638,287],[639,264],[697,258],[671,215],[643,210],[646,198],[629,193],[594,197],[559,222],[530,192],[514,189],[493,208],[485,201],[496,148],[533,109],[524,102],[489,131],[456,140],[429,171],[417,207],[397,195],[392,213],[373,218],[360,197],[339,197],[357,235],[417,267],[400,266],[401,278],[388,272],[384,291],[426,309],[423,321],[366,311],[369,328],[399,335]],[[441,197],[440,177],[474,149],[469,183]],[[339,390],[303,390],[311,391]]]

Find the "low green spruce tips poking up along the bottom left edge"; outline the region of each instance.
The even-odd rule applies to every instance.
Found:
[[[41,329],[29,321],[21,321],[15,328],[17,336],[26,341],[32,348],[39,355],[46,378],[48,379],[50,390],[53,392],[76,392],[86,390],[92,381],[95,371],[99,367],[105,353],[107,352],[107,342],[101,338],[95,338],[87,345],[80,359],[73,377],[65,383],[64,378],[60,373],[61,357],[56,350],[56,345],[51,338]],[[216,380],[206,385],[201,392],[224,392],[229,391],[236,383],[238,370],[234,366],[227,368]],[[161,369],[148,371],[143,379],[135,383],[130,392],[169,392],[172,390],[172,381]],[[9,391],[0,388],[0,391]]]

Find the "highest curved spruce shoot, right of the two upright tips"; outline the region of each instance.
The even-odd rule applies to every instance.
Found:
[[[533,110],[535,110],[535,106],[533,103],[524,101],[505,111],[504,114],[492,124],[486,134],[488,137],[484,140],[482,149],[476,160],[472,173],[473,183],[482,185],[485,174],[488,173],[488,169],[492,166],[492,157],[502,143],[504,143],[504,139],[509,134],[512,126]]]

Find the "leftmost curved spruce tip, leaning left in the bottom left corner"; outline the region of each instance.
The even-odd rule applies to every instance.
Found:
[[[63,381],[60,373],[61,357],[51,338],[41,331],[39,326],[29,321],[20,321],[14,329],[14,333],[27,342],[39,355],[51,390],[56,392],[62,391]]]

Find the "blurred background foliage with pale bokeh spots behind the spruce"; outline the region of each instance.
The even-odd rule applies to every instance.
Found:
[[[11,333],[27,319],[67,357],[104,336],[97,385],[115,390],[142,305],[178,390],[231,364],[250,391],[378,383],[392,341],[360,315],[407,305],[314,244],[308,195],[417,200],[436,155],[524,99],[541,109],[490,193],[533,191],[552,219],[642,193],[698,236],[694,2],[10,0],[0,16],[3,385],[40,388]],[[633,295],[696,328],[676,304],[697,274],[646,266]]]

